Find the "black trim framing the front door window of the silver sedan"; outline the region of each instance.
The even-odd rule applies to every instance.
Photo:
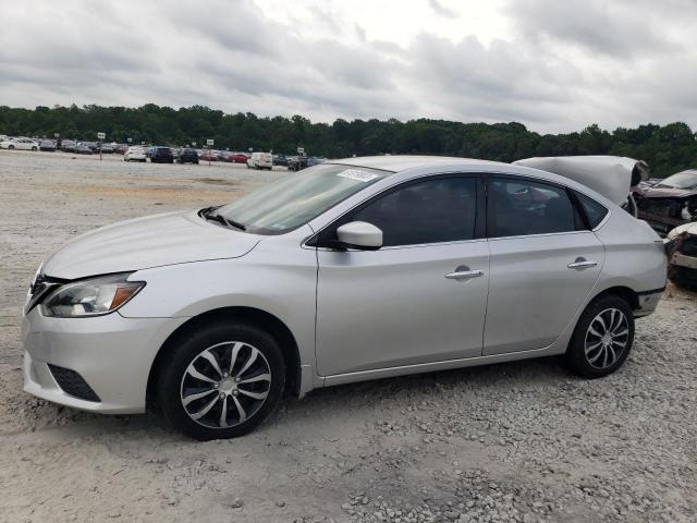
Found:
[[[345,212],[343,212],[341,216],[334,218],[330,223],[328,223],[327,226],[325,226],[321,230],[317,231],[315,234],[313,234],[307,241],[304,242],[304,245],[307,245],[309,247],[316,247],[316,248],[322,248],[322,250],[330,250],[330,251],[335,251],[337,247],[332,246],[330,243],[330,239],[322,239],[322,235],[327,234],[327,233],[331,233],[333,231],[335,231],[337,228],[341,227],[343,224],[342,220],[344,220],[348,215],[353,214],[353,212],[357,212],[362,209],[364,209],[365,207],[367,207],[368,205],[370,205],[372,202],[386,197],[390,194],[392,194],[395,191],[400,191],[404,187],[407,187],[409,185],[417,185],[419,183],[424,183],[424,182],[428,182],[431,180],[438,180],[438,179],[451,179],[451,178],[468,178],[468,179],[475,179],[475,188],[476,188],[476,199],[475,199],[475,233],[473,235],[472,239],[469,240],[449,240],[447,242],[432,242],[432,243],[411,243],[411,244],[403,244],[403,245],[389,245],[386,247],[381,247],[381,250],[395,250],[395,248],[405,248],[405,247],[417,247],[417,246],[432,246],[432,245],[448,245],[448,244],[457,244],[457,243],[466,243],[466,242],[474,242],[474,241],[480,241],[480,240],[486,240],[487,238],[487,229],[486,229],[486,185],[487,185],[487,181],[485,180],[486,175],[484,173],[480,172],[441,172],[441,173],[430,173],[430,174],[425,174],[423,177],[418,177],[418,178],[413,178],[409,180],[405,180],[403,182],[398,182],[394,185],[391,185],[389,187],[384,187],[382,191],[369,196],[367,199],[360,202],[359,204],[356,204],[354,207],[352,207],[351,209],[346,210]],[[321,240],[320,240],[321,239]],[[325,243],[326,242],[326,243]]]

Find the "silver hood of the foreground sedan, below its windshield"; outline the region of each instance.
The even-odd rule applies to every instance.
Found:
[[[261,236],[201,219],[196,211],[146,216],[96,229],[52,253],[42,271],[53,278],[87,276],[236,258]]]

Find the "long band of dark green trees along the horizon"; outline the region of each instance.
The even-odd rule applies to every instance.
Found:
[[[592,124],[579,132],[539,134],[522,123],[462,123],[448,120],[335,120],[313,123],[294,115],[228,114],[203,106],[173,109],[147,104],[138,108],[39,106],[35,109],[0,106],[0,133],[108,142],[145,142],[183,146],[205,144],[230,150],[294,153],[341,158],[380,154],[419,154],[481,158],[510,162],[531,156],[616,155],[648,161],[653,175],[697,168],[697,139],[683,122],[644,124],[612,132]]]

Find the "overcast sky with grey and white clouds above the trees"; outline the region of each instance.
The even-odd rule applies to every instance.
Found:
[[[0,0],[0,105],[697,127],[695,0]]]

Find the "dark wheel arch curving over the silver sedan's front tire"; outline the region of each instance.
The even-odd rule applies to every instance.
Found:
[[[298,396],[301,389],[301,356],[297,342],[291,329],[277,316],[254,307],[222,307],[208,311],[189,318],[182,324],[164,340],[158,350],[150,372],[148,374],[148,382],[146,389],[146,404],[151,405],[155,401],[155,379],[161,365],[164,362],[164,355],[171,346],[176,343],[179,337],[184,332],[195,329],[210,321],[243,321],[255,325],[267,330],[279,343],[283,357],[285,358],[285,390],[292,394]]]

